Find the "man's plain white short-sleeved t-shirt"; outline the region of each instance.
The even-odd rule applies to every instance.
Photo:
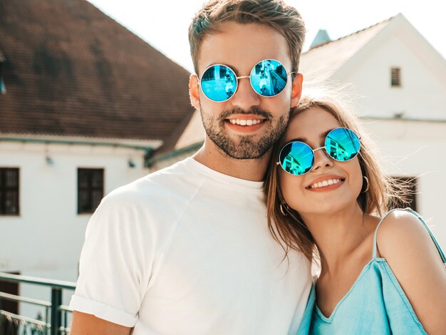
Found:
[[[296,334],[310,264],[283,257],[262,182],[187,158],[101,202],[70,306],[134,335]]]

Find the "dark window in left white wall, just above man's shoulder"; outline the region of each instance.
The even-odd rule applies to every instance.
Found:
[[[104,169],[78,169],[78,214],[93,213],[104,196]]]

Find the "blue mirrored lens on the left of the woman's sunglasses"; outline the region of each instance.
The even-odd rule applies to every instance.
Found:
[[[314,155],[305,143],[291,142],[282,148],[279,161],[281,167],[291,175],[304,175],[313,167]]]

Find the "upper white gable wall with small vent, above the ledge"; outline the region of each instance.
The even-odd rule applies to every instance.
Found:
[[[377,36],[379,43],[370,43],[331,79],[353,83],[353,91],[363,97],[358,101],[361,115],[446,120],[445,66],[432,69],[432,50],[417,52],[420,46],[411,45],[404,31],[385,37]],[[401,69],[401,87],[390,86],[393,67]]]

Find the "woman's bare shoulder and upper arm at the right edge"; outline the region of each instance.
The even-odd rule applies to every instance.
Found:
[[[446,268],[429,232],[410,212],[395,211],[378,230],[378,252],[430,335],[446,334]]]

